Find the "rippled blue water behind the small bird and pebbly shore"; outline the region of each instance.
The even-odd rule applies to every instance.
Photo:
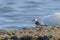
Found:
[[[0,29],[34,27],[34,18],[60,11],[60,0],[0,0]]]

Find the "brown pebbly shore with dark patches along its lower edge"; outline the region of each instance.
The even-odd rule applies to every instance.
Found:
[[[0,40],[60,40],[60,27],[0,30]]]

